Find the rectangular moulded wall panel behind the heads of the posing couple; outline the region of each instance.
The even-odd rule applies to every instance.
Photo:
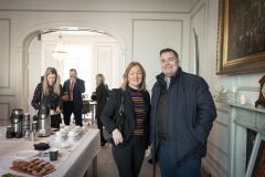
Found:
[[[174,49],[182,60],[183,21],[167,19],[135,19],[132,21],[132,61],[142,64],[147,73],[147,86],[151,90],[156,75],[161,72],[159,52]],[[180,63],[181,64],[181,63]]]

